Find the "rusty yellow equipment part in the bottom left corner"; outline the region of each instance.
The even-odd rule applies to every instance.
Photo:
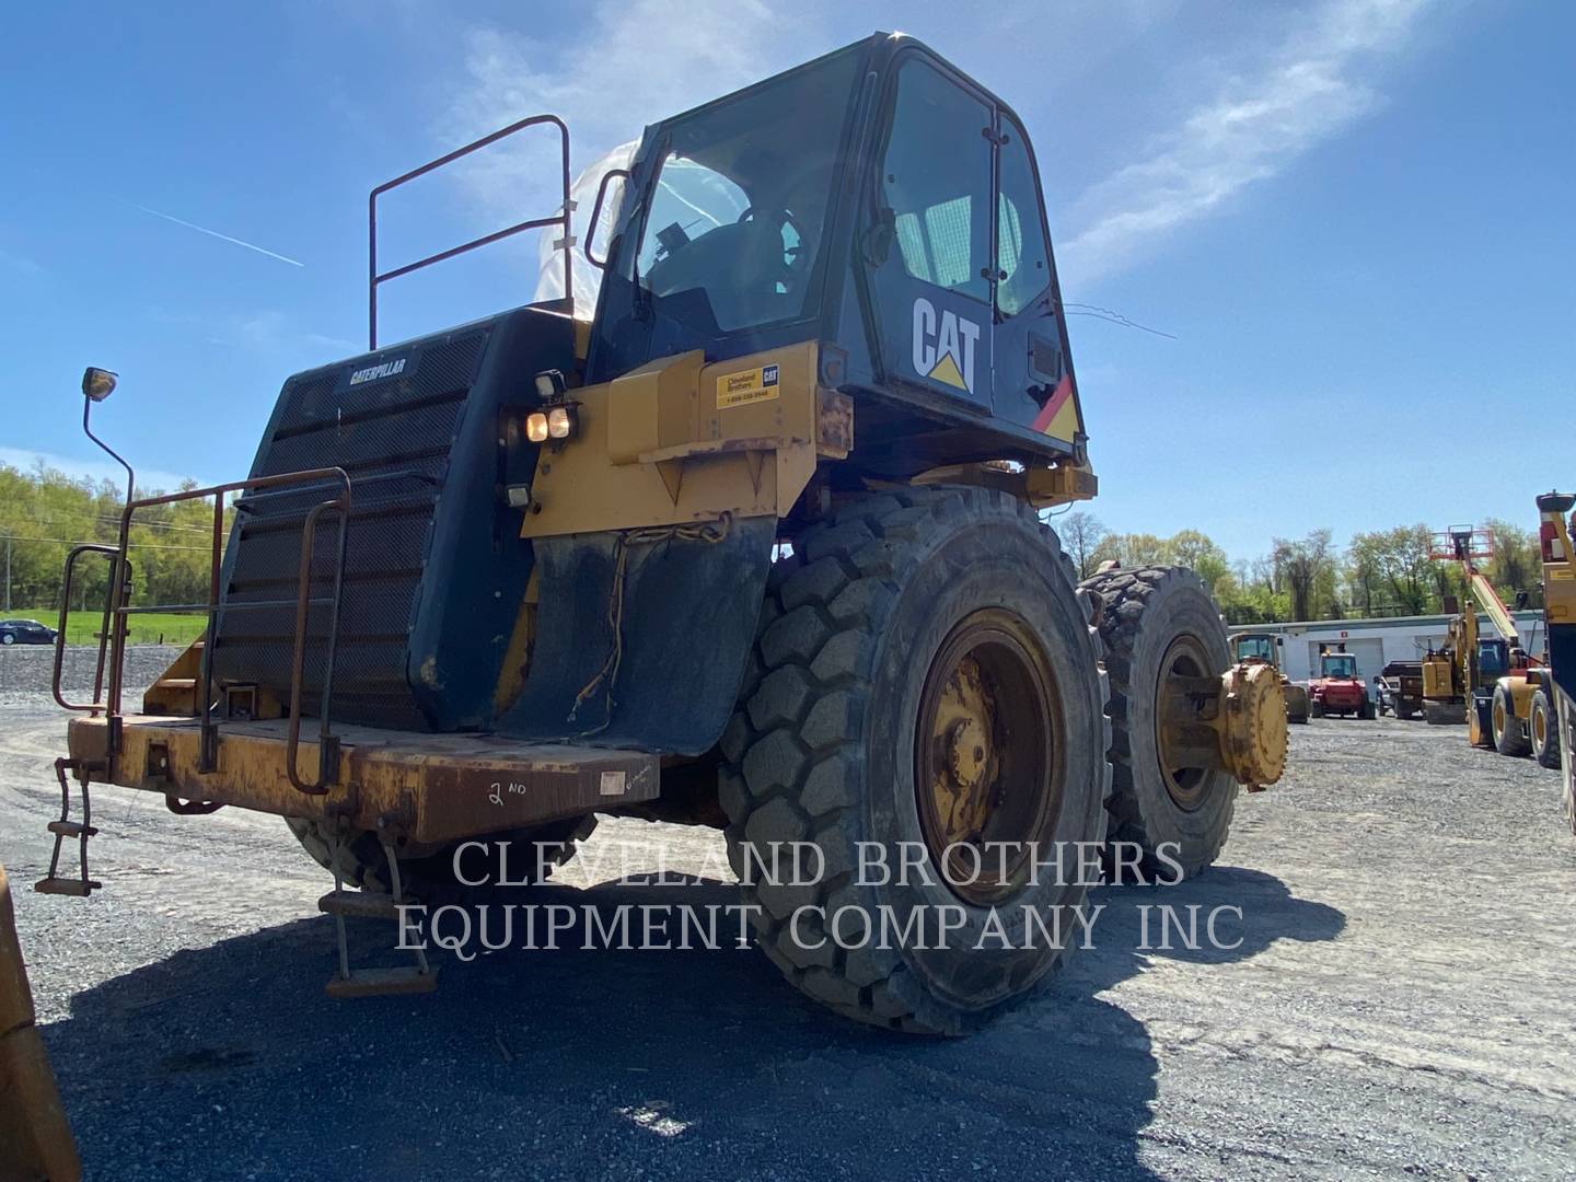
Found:
[[[0,867],[0,1179],[79,1177],[82,1163],[38,1034],[11,884]]]

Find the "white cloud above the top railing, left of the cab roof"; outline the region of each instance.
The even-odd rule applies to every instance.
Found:
[[[470,84],[448,112],[444,139],[466,142],[552,112],[569,125],[578,169],[638,137],[646,123],[820,52],[804,52],[815,41],[804,36],[805,17],[774,13],[763,0],[600,0],[575,17],[585,32],[567,44],[471,30]],[[541,140],[507,143],[478,153],[460,175],[482,206],[539,216],[558,202],[552,161]]]

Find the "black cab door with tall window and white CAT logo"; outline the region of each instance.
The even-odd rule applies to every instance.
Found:
[[[900,58],[865,252],[889,381],[993,408],[993,110],[922,54]]]

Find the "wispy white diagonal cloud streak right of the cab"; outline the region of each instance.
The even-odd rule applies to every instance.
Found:
[[[1089,188],[1057,251],[1070,284],[1121,268],[1177,227],[1374,110],[1373,58],[1404,47],[1431,0],[1325,0],[1261,71],[1237,77],[1166,132],[1150,154]]]

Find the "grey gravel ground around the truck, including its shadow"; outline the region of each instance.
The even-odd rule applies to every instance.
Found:
[[[0,671],[0,860],[95,1177],[1502,1179],[1576,1162],[1576,842],[1557,772],[1470,750],[1463,728],[1292,728],[1286,780],[1240,799],[1218,867],[1098,892],[1098,947],[938,1042],[832,1018],[731,947],[440,957],[433,996],[334,1002],[328,879],[282,823],[120,790],[98,794],[106,889],[35,895],[63,716],[47,671],[25,681]],[[730,903],[719,843],[604,821],[531,897]],[[588,881],[659,848],[712,881]],[[1152,901],[1240,906],[1242,944],[1138,950]],[[388,942],[355,930],[358,953]]]

